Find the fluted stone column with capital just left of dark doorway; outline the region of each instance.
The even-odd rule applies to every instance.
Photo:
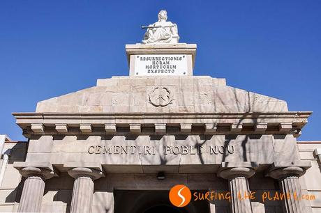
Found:
[[[91,213],[94,194],[94,180],[102,177],[100,170],[87,167],[71,168],[68,174],[75,178],[73,184],[73,198],[71,200],[71,213]]]

